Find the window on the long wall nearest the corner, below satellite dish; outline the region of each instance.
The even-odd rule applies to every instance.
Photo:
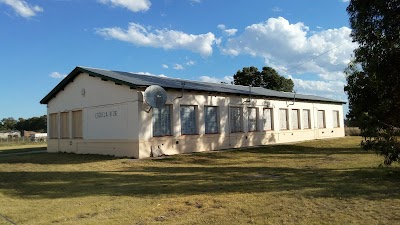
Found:
[[[153,108],[153,137],[171,135],[171,106]]]

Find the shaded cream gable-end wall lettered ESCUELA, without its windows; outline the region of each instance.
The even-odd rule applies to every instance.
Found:
[[[137,105],[137,90],[80,74],[50,100],[48,116],[68,112],[71,121],[82,110],[83,138],[72,139],[70,127],[70,138],[49,139],[48,151],[138,157]]]

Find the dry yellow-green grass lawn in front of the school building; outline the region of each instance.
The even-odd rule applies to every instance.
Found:
[[[360,141],[155,160],[0,156],[0,224],[399,224],[400,167],[380,167]]]

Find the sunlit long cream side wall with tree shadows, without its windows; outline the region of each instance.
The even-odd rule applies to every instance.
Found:
[[[139,93],[141,95],[141,93]],[[166,154],[179,154],[186,152],[209,151],[228,148],[239,148],[256,145],[266,145],[271,143],[287,143],[320,138],[333,138],[344,136],[343,106],[341,104],[323,104],[312,102],[266,100],[238,97],[234,95],[215,96],[204,95],[203,93],[185,92],[181,97],[181,92],[168,92],[167,104],[172,105],[172,135],[165,137],[152,137],[152,112],[146,111],[145,104],[139,104],[140,121],[139,126],[139,157],[149,157],[151,148],[160,148]],[[139,97],[140,98],[140,97]],[[180,105],[196,105],[197,108],[197,127],[196,135],[181,135],[180,124]],[[219,134],[205,134],[204,125],[204,106],[218,106],[220,119]],[[140,108],[142,107],[142,110]],[[243,108],[243,132],[230,133],[229,127],[229,108]],[[247,107],[256,107],[259,113],[257,131],[248,132]],[[271,131],[263,131],[261,115],[263,108],[272,108],[274,127]],[[279,109],[288,109],[288,130],[279,129]],[[310,110],[310,129],[304,129],[300,123],[300,129],[292,130],[291,109]],[[317,127],[317,111],[325,111],[325,128]],[[333,110],[339,111],[338,128],[333,127]],[[300,116],[301,118],[301,116]]]

